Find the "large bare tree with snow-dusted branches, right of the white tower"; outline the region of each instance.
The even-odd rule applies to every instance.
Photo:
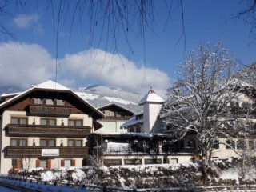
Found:
[[[176,138],[174,141],[187,134],[195,135],[202,155],[202,179],[205,185],[207,163],[214,142],[218,138],[231,140],[234,136],[231,133],[242,131],[241,125],[232,123],[238,117],[230,106],[230,102],[237,101],[245,94],[244,86],[234,79],[237,64],[220,43],[216,46],[199,46],[198,53],[190,54],[186,62],[180,64],[180,78],[167,90],[168,100],[161,112],[168,128],[166,132]],[[246,129],[243,131],[246,132]]]

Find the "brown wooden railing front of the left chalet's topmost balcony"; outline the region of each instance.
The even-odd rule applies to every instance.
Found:
[[[71,107],[64,106],[30,106],[30,114],[55,114],[55,115],[70,115]]]

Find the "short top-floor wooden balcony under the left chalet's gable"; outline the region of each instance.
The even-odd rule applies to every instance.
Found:
[[[34,115],[50,115],[50,116],[62,116],[67,117],[72,114],[73,106],[56,106],[56,105],[38,105],[30,104],[28,106],[28,112]]]

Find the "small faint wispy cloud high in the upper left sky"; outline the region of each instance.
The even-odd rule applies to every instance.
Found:
[[[38,14],[19,14],[17,17],[14,18],[14,23],[16,26],[22,29],[27,29],[34,23],[37,23],[38,19]]]

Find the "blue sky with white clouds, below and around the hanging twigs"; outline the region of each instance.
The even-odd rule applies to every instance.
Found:
[[[51,12],[46,11],[45,2],[39,1],[37,5],[36,1],[26,1],[26,6],[19,9],[10,4],[7,8],[12,15],[1,15],[1,24],[14,34],[16,40],[0,34],[0,86],[26,89],[49,78],[54,80],[56,21]],[[98,43],[102,30],[98,25],[90,44],[90,23],[86,18],[83,18],[82,26],[74,22],[71,36],[69,19],[62,20],[57,80],[71,87],[102,84],[137,92],[145,92],[152,86],[164,93],[177,78],[174,71],[178,69],[178,63],[186,60],[200,43],[209,41],[212,44],[221,41],[223,47],[230,50],[230,55],[240,59],[242,65],[248,65],[255,62],[256,50],[255,44],[250,44],[250,26],[242,20],[229,20],[246,7],[247,2],[184,0],[186,49],[185,38],[178,42],[182,34],[181,10],[174,10],[166,24],[168,11],[163,1],[154,1],[154,23],[151,30],[145,30],[145,42],[137,33],[136,22],[130,23],[128,38],[133,53],[121,30],[117,34],[117,44],[110,36],[106,46],[106,35]],[[54,18],[57,18],[58,10],[54,9]]]

